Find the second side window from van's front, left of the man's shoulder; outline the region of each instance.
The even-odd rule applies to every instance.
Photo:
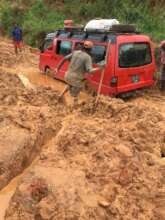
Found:
[[[56,53],[66,56],[72,52],[72,42],[70,41],[57,41]]]

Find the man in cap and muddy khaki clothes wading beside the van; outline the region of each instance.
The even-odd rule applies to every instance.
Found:
[[[94,73],[104,67],[104,65],[98,68],[92,67],[92,58],[90,56],[92,47],[93,43],[91,41],[85,41],[81,50],[76,50],[65,56],[55,69],[55,74],[57,74],[65,61],[71,60],[68,71],[65,74],[65,81],[68,85],[60,95],[60,98],[69,90],[70,95],[73,97],[73,107],[78,104],[78,96],[85,80],[84,74]]]

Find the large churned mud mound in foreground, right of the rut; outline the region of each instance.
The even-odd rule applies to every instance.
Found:
[[[164,123],[121,100],[82,104],[17,187],[6,219],[163,219]]]

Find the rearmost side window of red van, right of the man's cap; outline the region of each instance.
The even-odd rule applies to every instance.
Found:
[[[102,45],[95,45],[91,50],[93,63],[99,63],[105,59],[106,47]]]

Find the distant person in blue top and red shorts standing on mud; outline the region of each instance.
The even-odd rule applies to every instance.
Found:
[[[15,49],[15,54],[18,54],[18,49],[21,51],[22,47],[22,29],[15,24],[12,30],[13,44]]]

